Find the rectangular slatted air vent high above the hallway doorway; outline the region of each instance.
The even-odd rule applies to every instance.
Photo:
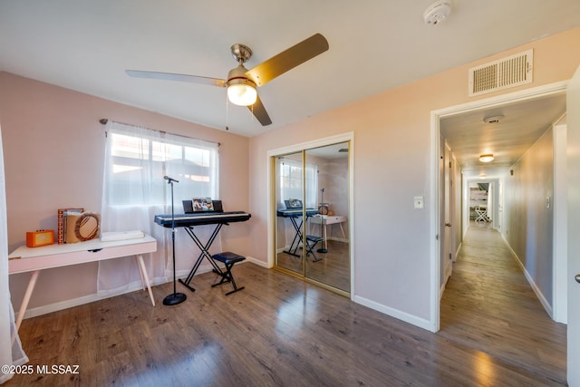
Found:
[[[469,69],[469,97],[532,82],[534,50]]]

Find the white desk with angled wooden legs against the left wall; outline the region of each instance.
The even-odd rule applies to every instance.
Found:
[[[92,239],[86,242],[63,245],[55,244],[43,247],[21,246],[16,248],[8,256],[8,273],[33,272],[28,281],[22,305],[18,311],[16,329],[20,328],[20,324],[24,318],[24,312],[26,312],[26,308],[28,307],[28,302],[33,294],[34,285],[36,285],[40,271],[53,267],[78,265],[87,262],[102,261],[104,259],[119,258],[121,256],[135,256],[137,266],[139,266],[140,270],[143,290],[147,286],[151,304],[155,306],[149,276],[143,263],[143,254],[153,253],[155,251],[157,251],[157,240],[148,235],[140,238],[108,242],[102,242],[100,239]]]

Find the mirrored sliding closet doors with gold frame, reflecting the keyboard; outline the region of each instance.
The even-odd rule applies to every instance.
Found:
[[[346,296],[353,278],[352,145],[347,134],[268,152],[272,266]]]

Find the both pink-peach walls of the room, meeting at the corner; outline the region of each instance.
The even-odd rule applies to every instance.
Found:
[[[247,227],[224,229],[224,248],[267,261],[267,151],[354,132],[354,298],[409,320],[430,318],[430,111],[476,100],[469,67],[529,48],[534,83],[569,79],[580,63],[580,29],[570,30],[383,92],[277,131],[247,139],[199,125],[0,73],[10,249],[24,233],[55,227],[55,210],[101,207],[105,117],[222,143],[220,192],[227,208],[247,209]],[[488,94],[478,99],[492,97]],[[292,133],[291,136],[284,135]],[[252,192],[249,195],[249,192]],[[413,209],[413,197],[425,209]],[[95,293],[96,265],[40,276],[31,307]],[[14,305],[28,275],[11,276]]]

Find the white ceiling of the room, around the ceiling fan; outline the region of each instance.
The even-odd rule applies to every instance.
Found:
[[[433,0],[2,0],[0,70],[251,137],[580,25],[578,0],[451,2],[433,26]],[[226,78],[232,44],[253,50],[249,69],[314,33],[329,50],[258,90],[267,127],[223,88],[124,73]],[[480,117],[447,125],[462,120]]]

